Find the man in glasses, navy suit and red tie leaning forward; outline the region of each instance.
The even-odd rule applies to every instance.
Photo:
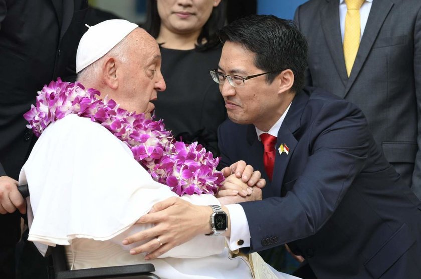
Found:
[[[307,45],[294,24],[249,16],[220,38],[212,76],[231,120],[219,130],[221,162],[244,160],[268,180],[262,201],[223,207],[229,247],[249,253],[288,243],[318,278],[419,278],[421,201],[386,161],[357,106],[302,90]],[[162,246],[152,239],[133,249],[154,258],[214,231],[211,214],[163,201],[139,219],[155,227],[125,243],[159,237]]]

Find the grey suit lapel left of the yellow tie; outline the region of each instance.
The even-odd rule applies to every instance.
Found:
[[[341,28],[339,21],[339,1],[328,0],[320,11],[320,21],[330,55],[344,86],[348,82],[345,59],[343,57]],[[342,96],[343,97],[343,96]]]

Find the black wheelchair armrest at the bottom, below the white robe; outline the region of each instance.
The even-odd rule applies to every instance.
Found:
[[[56,279],[91,279],[91,278],[114,278],[114,279],[159,279],[150,272],[155,271],[151,263],[79,269],[72,271],[59,271]]]

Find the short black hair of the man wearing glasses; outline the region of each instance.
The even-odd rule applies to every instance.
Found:
[[[225,26],[218,32],[222,43],[239,43],[255,53],[255,66],[265,72],[268,84],[282,69],[291,69],[294,84],[299,92],[304,86],[307,67],[307,41],[291,20],[273,15],[249,15]]]

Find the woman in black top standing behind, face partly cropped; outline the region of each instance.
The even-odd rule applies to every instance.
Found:
[[[218,67],[221,45],[214,34],[224,22],[221,0],[148,0],[143,26],[160,44],[167,85],[154,102],[156,118],[178,139],[198,141],[214,156],[226,110],[209,71]]]

